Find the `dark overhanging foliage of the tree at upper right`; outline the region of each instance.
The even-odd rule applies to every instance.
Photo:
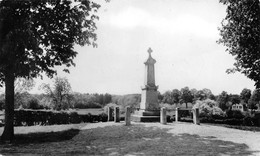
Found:
[[[233,69],[245,74],[260,87],[260,2],[259,0],[220,0],[227,5],[227,15],[220,29],[221,39],[235,57]]]

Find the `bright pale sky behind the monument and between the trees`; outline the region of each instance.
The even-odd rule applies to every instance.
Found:
[[[68,78],[72,90],[81,93],[141,93],[144,61],[152,48],[155,81],[159,91],[188,86],[208,88],[213,94],[222,91],[240,94],[243,88],[254,89],[246,76],[227,74],[234,58],[216,41],[218,27],[226,7],[218,0],[98,0],[97,48],[75,50],[76,67],[70,74],[58,69],[59,77]],[[44,77],[36,80],[31,91],[41,93]]]

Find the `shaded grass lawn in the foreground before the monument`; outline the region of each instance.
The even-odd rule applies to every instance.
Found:
[[[67,125],[68,126],[68,125]],[[198,135],[168,133],[158,127],[108,126],[79,130],[83,124],[42,126],[1,144],[3,155],[250,155],[245,144]],[[33,131],[34,129],[34,131]],[[50,130],[53,131],[50,131]]]

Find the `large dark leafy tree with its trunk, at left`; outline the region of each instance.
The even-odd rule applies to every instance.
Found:
[[[1,140],[14,136],[14,80],[56,74],[74,66],[75,44],[96,41],[95,14],[100,7],[90,0],[0,1],[0,82],[5,84],[5,127]]]

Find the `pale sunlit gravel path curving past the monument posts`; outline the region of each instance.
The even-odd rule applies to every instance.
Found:
[[[244,131],[232,128],[226,128],[221,126],[213,126],[207,124],[194,125],[192,123],[168,123],[167,125],[162,125],[160,123],[135,123],[132,125],[143,125],[145,127],[156,127],[156,128],[166,128],[169,129],[168,133],[173,135],[181,134],[191,134],[198,135],[201,137],[207,137],[212,140],[223,140],[230,141],[234,143],[246,144],[254,155],[260,156],[260,132]],[[88,124],[82,129],[92,129],[97,127],[106,127],[113,125],[124,125],[121,123],[106,122],[97,124]]]

